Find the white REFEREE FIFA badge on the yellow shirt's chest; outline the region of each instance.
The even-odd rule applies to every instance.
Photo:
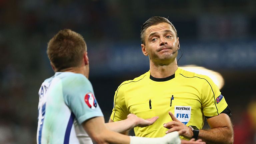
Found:
[[[186,125],[191,117],[191,106],[175,106],[174,116]]]

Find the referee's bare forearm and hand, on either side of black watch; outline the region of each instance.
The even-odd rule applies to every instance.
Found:
[[[164,124],[164,127],[169,130],[166,133],[173,131],[179,131],[184,129],[186,132],[181,134],[185,138],[191,139],[193,137],[192,130],[180,122],[171,112],[169,112],[173,121]],[[198,138],[202,139],[206,143],[218,143],[218,144],[232,144],[233,143],[233,127],[229,116],[225,113],[221,113],[218,116],[214,116],[207,119],[211,129],[199,130]]]

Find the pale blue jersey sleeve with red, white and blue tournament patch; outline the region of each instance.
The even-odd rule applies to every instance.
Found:
[[[94,96],[90,81],[85,77],[74,77],[72,82],[63,86],[66,105],[71,109],[79,124],[87,119],[103,116]]]

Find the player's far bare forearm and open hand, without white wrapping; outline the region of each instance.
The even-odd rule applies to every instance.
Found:
[[[126,131],[128,131],[128,130],[136,127],[136,126],[146,127],[146,126],[152,125],[157,119],[158,119],[158,117],[152,117],[150,119],[145,120],[145,119],[137,117],[134,114],[129,114],[127,116],[127,119],[117,121],[117,122],[114,122],[114,123],[110,119],[111,121],[109,123],[106,123],[106,127],[109,130],[112,130],[112,131],[115,131],[115,132],[118,132],[118,133],[124,133],[124,132],[126,132]]]

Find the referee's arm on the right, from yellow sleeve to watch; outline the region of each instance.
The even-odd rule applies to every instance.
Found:
[[[198,138],[208,143],[232,144],[234,142],[233,126],[230,120],[231,110],[225,98],[216,84],[209,78],[202,85],[202,107],[203,113],[207,117],[207,122],[211,129],[199,130]],[[214,96],[218,96],[219,102]],[[213,99],[214,97],[214,99]],[[211,107],[213,109],[211,109]],[[218,115],[215,112],[215,107]],[[226,108],[224,108],[226,107]],[[224,110],[222,110],[224,108]],[[212,111],[214,110],[214,111]],[[214,115],[210,113],[215,113]],[[208,117],[210,116],[210,117]]]

